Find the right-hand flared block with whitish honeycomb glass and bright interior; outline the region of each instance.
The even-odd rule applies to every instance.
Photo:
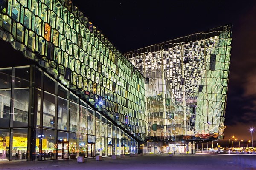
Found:
[[[125,54],[146,79],[147,141],[224,139],[230,45],[227,25]]]

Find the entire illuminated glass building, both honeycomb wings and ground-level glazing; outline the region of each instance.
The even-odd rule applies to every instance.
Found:
[[[0,69],[0,159],[224,137],[231,25],[121,54],[69,0],[1,0],[0,39],[35,63]]]

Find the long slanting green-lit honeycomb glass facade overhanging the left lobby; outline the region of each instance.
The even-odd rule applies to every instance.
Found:
[[[132,136],[145,139],[144,77],[68,3],[3,1],[1,38]]]

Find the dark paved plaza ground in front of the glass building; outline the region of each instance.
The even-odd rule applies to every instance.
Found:
[[[244,161],[250,160],[250,163]],[[248,165],[251,164],[252,165]],[[254,155],[146,155],[125,158],[49,161],[0,161],[0,170],[256,170]]]

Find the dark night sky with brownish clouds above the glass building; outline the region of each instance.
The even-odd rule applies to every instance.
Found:
[[[250,127],[256,130],[255,0],[73,0],[73,3],[122,53],[232,23],[225,140],[231,135],[240,140],[251,138]],[[11,49],[10,45],[2,44],[1,58],[8,55],[4,48]],[[256,133],[253,138],[256,141]]]

